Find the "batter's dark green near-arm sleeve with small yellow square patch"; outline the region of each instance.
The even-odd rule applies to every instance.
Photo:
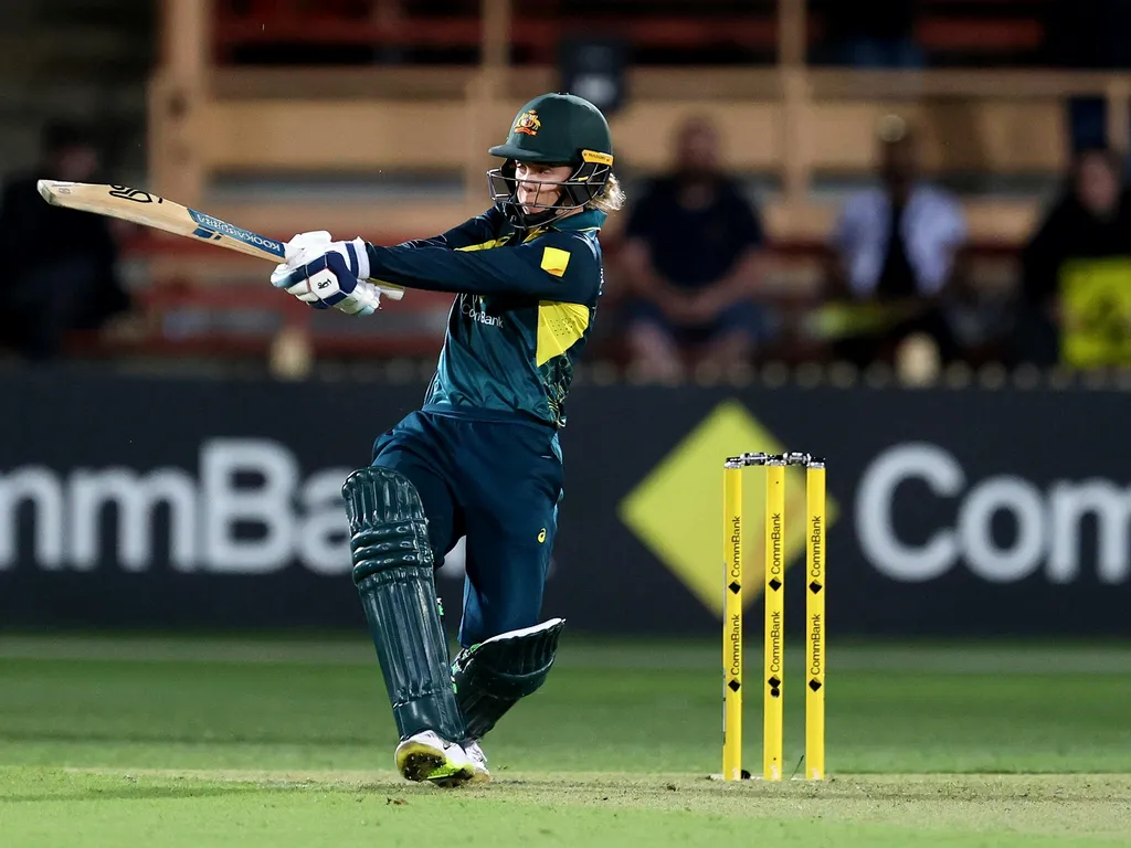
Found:
[[[511,294],[590,304],[601,287],[601,261],[578,233],[550,232],[526,244],[491,250],[366,245],[370,276],[430,292]]]

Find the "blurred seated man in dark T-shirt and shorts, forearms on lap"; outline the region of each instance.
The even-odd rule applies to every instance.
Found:
[[[674,173],[646,190],[625,236],[636,372],[667,379],[688,358],[748,362],[761,325],[753,295],[765,239],[758,211],[722,170],[711,123],[694,119],[680,129]]]

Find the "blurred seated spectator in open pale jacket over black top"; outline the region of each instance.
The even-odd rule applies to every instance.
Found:
[[[947,306],[965,215],[920,178],[915,136],[901,119],[884,119],[879,145],[880,184],[848,198],[832,234],[830,294],[865,306],[854,310],[856,331],[835,355],[858,365],[891,360],[903,339],[925,334],[949,362],[959,353]]]

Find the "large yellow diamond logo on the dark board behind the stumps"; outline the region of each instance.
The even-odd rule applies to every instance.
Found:
[[[805,445],[797,445],[798,448]],[[716,615],[723,614],[723,461],[746,451],[783,453],[772,433],[737,401],[719,404],[621,502],[621,520]],[[766,471],[744,474],[746,516],[744,598],[765,583]],[[786,469],[786,566],[805,552],[805,471]],[[837,519],[828,499],[826,528]]]

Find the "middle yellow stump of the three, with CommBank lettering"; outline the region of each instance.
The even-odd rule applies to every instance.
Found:
[[[766,464],[766,639],[763,657],[762,778],[782,779],[782,704],[785,685],[785,462]]]

